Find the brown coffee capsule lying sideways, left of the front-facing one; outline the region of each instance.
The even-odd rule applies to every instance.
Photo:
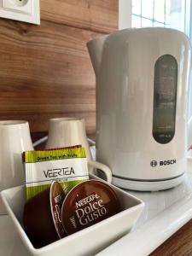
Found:
[[[53,182],[49,189],[26,201],[23,224],[32,241],[49,244],[66,236],[61,224],[61,205],[64,198],[61,184]]]

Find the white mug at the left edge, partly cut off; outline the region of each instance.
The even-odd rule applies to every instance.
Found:
[[[0,121],[0,191],[25,183],[22,152],[33,150],[26,121]],[[5,214],[0,201],[0,214]]]

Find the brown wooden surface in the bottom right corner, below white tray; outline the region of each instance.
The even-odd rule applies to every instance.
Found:
[[[150,256],[192,255],[192,220],[158,247]]]

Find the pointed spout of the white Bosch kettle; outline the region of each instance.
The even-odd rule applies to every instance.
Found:
[[[92,62],[96,75],[99,73],[102,64],[102,49],[106,38],[108,38],[108,35],[90,40],[87,43],[87,48],[90,54],[90,60]]]

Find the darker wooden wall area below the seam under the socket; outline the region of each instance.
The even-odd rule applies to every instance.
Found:
[[[51,117],[84,117],[93,133],[95,74],[86,42],[98,35],[46,20],[0,20],[0,119],[27,119],[32,131],[46,131]]]

